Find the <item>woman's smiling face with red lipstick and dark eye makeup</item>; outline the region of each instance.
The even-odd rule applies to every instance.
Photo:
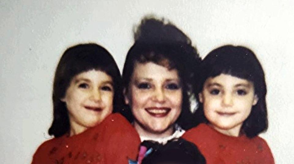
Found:
[[[153,62],[136,63],[126,104],[135,118],[134,124],[151,133],[173,128],[182,110],[182,86],[177,70]]]

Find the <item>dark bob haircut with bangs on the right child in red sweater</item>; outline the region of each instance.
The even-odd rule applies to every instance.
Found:
[[[232,45],[225,45],[211,51],[202,61],[201,78],[195,84],[196,95],[202,91],[203,85],[208,78],[213,78],[220,74],[229,74],[246,79],[254,85],[254,92],[258,97],[258,102],[252,107],[250,115],[243,122],[241,133],[252,138],[266,131],[268,127],[266,82],[262,66],[255,54],[246,47]],[[199,97],[196,97],[199,102]],[[195,115],[196,121],[199,121],[198,123],[208,123],[201,103]]]

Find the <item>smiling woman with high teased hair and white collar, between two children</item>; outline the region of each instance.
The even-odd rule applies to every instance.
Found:
[[[141,141],[164,144],[192,125],[190,82],[200,58],[190,39],[164,20],[143,19],[134,39],[123,68],[125,103],[129,107],[123,114],[133,123]]]

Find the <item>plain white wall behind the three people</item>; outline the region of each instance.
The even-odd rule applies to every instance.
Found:
[[[0,161],[29,163],[49,136],[51,89],[63,51],[96,42],[120,69],[132,29],[148,13],[166,17],[205,56],[223,44],[252,48],[266,72],[269,129],[261,136],[276,163],[294,154],[292,0],[0,1]]]

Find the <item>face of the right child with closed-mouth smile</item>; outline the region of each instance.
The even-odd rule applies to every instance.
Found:
[[[253,83],[228,74],[208,78],[199,93],[205,117],[217,131],[238,136],[243,121],[258,101]]]

